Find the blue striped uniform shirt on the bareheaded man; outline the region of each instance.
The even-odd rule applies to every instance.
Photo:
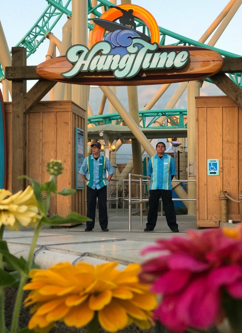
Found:
[[[150,190],[172,190],[172,176],[176,174],[174,158],[168,154],[159,158],[154,155],[150,158],[147,174],[151,177]]]

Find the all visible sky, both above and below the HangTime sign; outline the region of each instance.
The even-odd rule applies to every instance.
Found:
[[[65,4],[66,0],[63,0],[63,3]],[[117,4],[120,3],[121,0],[117,0]],[[154,16],[159,26],[194,40],[198,40],[202,36],[228,3],[229,0],[132,0],[132,4],[139,5],[148,10]],[[0,0],[0,22],[9,49],[18,44],[44,12],[47,5],[46,0]],[[69,6],[69,9],[71,10],[71,6]],[[241,19],[242,6],[215,45],[217,48],[242,56]],[[65,22],[66,15],[63,15],[62,19],[52,30],[54,35],[60,40],[62,39],[62,26]],[[172,43],[172,41],[167,40],[166,44],[169,44],[169,42]],[[38,65],[45,61],[48,46],[49,41],[45,40],[37,51],[28,57],[27,65]],[[28,81],[27,84],[29,89],[34,82]],[[165,108],[167,101],[169,101],[177,87],[178,84],[171,85],[164,96],[154,105],[154,109]],[[143,109],[144,105],[146,105],[158,88],[158,85],[138,87],[139,110]],[[92,96],[90,99],[94,114],[97,113],[99,101],[102,96],[98,89],[93,88],[92,95],[90,95]],[[125,92],[124,88],[121,87],[117,95],[124,106],[128,108],[127,91]],[[204,82],[200,95],[223,95],[223,93],[215,85]],[[186,108],[185,93],[176,104],[176,108]],[[107,107],[105,112],[107,112]]]

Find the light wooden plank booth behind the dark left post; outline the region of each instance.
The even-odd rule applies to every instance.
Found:
[[[6,102],[8,166],[12,165],[12,103]],[[75,128],[85,128],[86,112],[72,101],[43,101],[26,115],[26,174],[40,183],[49,179],[46,165],[51,159],[61,160],[63,173],[57,178],[57,190],[75,189]],[[8,167],[7,189],[12,189],[11,167]],[[85,191],[73,195],[54,195],[50,214],[66,216],[70,212],[85,215]]]

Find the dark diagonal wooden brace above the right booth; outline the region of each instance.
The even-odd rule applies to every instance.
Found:
[[[231,98],[242,109],[242,89],[239,88],[227,75],[218,73],[210,79],[220,90]]]

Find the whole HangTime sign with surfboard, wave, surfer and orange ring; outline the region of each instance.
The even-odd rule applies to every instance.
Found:
[[[94,19],[92,48],[73,45],[66,56],[38,65],[38,75],[53,81],[84,85],[148,85],[203,79],[223,65],[221,55],[208,48],[159,46],[153,16],[136,5],[110,6]],[[122,16],[120,16],[122,13]],[[150,29],[136,29],[134,18]],[[119,23],[113,22],[119,19]]]

